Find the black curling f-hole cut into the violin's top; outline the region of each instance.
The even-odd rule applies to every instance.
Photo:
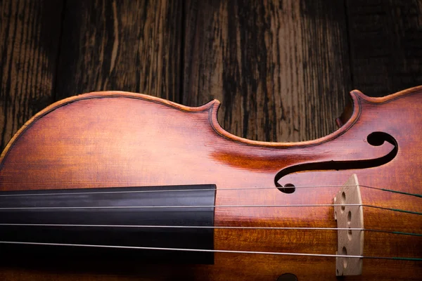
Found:
[[[373,146],[380,146],[386,141],[394,145],[394,148],[388,152],[387,155],[383,157],[375,158],[375,159],[365,159],[365,160],[354,160],[354,161],[329,161],[329,162],[314,162],[314,163],[306,163],[306,164],[299,164],[295,166],[288,166],[287,168],[279,171],[274,178],[274,184],[276,187],[283,193],[293,193],[295,192],[296,188],[294,183],[287,183],[285,185],[281,185],[279,181],[283,176],[287,176],[288,174],[293,173],[300,173],[306,171],[340,171],[340,170],[354,170],[354,169],[368,169],[375,166],[381,166],[383,164],[387,164],[390,162],[394,157],[397,155],[398,152],[398,145],[395,138],[393,138],[390,134],[384,132],[373,132],[370,133],[366,140],[370,145]]]

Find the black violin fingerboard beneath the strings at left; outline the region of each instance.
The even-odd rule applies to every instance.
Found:
[[[51,246],[115,247],[106,253],[108,257],[127,256],[124,247],[214,249],[212,228],[183,227],[214,226],[214,204],[215,185],[0,192],[0,241],[22,242],[19,247],[30,248],[33,253],[46,251],[46,247],[28,247],[26,242],[60,248],[60,252],[63,247]],[[5,243],[3,247],[12,245]],[[82,248],[72,254],[105,254],[97,247]],[[212,253],[132,252],[131,256],[154,262],[213,263]]]

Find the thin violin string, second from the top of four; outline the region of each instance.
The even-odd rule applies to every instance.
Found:
[[[1,210],[48,210],[48,209],[179,209],[179,208],[267,208],[267,207],[345,207],[362,206],[407,214],[422,215],[422,212],[373,206],[368,204],[274,204],[274,205],[169,205],[169,206],[85,206],[85,207],[0,207]]]

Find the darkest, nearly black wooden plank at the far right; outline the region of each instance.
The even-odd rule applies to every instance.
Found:
[[[347,0],[353,86],[385,96],[422,85],[422,1]]]

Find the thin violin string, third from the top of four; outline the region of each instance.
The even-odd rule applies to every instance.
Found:
[[[419,233],[403,233],[369,228],[301,228],[301,227],[269,227],[269,226],[160,226],[160,225],[109,225],[109,224],[59,224],[59,223],[0,223],[0,226],[47,226],[47,227],[94,227],[94,228],[193,228],[193,229],[255,229],[255,230],[362,230],[396,235],[422,236]]]

